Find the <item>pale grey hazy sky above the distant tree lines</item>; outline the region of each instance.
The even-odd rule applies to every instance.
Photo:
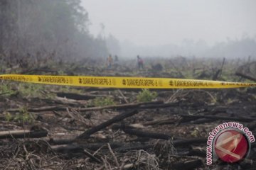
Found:
[[[256,36],[255,0],[82,0],[90,32],[137,45],[179,44],[183,39],[212,44]]]

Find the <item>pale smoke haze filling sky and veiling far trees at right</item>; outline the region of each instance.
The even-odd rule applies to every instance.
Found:
[[[82,5],[89,13],[90,32],[111,33],[123,56],[256,54],[254,0],[82,0]]]

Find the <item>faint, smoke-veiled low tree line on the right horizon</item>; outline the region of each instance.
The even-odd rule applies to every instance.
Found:
[[[155,56],[155,57],[175,57],[178,55],[186,57],[220,57],[220,58],[247,58],[256,57],[256,37],[243,36],[239,39],[230,39],[223,42],[215,42],[208,45],[204,40],[183,40],[180,45],[167,44],[155,46],[137,46],[132,42],[123,42],[122,56]]]

